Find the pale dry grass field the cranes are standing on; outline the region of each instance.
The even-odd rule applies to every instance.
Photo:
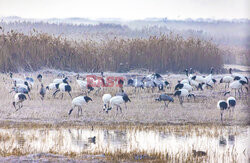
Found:
[[[107,74],[107,73],[106,73]],[[29,74],[36,78],[37,73]],[[117,75],[112,74],[110,75]],[[120,74],[128,75],[128,74]],[[14,74],[14,77],[23,77],[23,74]],[[46,86],[56,78],[56,74],[43,74],[44,85]],[[76,83],[76,79],[71,75],[72,96],[77,97],[82,92]],[[173,87],[177,80],[184,79],[184,75],[165,75],[172,85],[172,89],[166,89],[167,93],[173,93]],[[216,79],[220,75],[215,76]],[[77,109],[72,115],[68,116],[68,111],[71,108],[71,98],[68,94],[64,95],[61,100],[60,94],[54,99],[52,98],[53,92],[47,92],[45,99],[40,99],[39,91],[37,89],[38,81],[31,91],[31,100],[24,102],[24,107],[19,111],[15,111],[12,101],[14,94],[9,93],[12,84],[11,79],[6,74],[0,75],[0,124],[5,126],[7,124],[28,124],[32,126],[39,124],[50,125],[87,125],[87,124],[221,124],[220,111],[217,109],[217,102],[224,97],[224,84],[216,84],[213,90],[206,89],[204,91],[193,91],[197,98],[195,101],[190,99],[185,102],[183,106],[180,105],[178,98],[175,98],[174,103],[170,103],[169,107],[164,109],[164,103],[156,102],[155,98],[160,94],[157,90],[154,93],[149,93],[147,90],[142,90],[139,93],[134,93],[134,89],[130,87],[124,88],[131,98],[131,102],[127,103],[128,109],[124,106],[123,112],[120,113],[116,109],[111,110],[108,114],[102,111],[103,93],[111,93],[114,95],[118,88],[105,88],[99,94],[90,97],[93,99],[83,107],[83,115],[77,116]],[[39,86],[40,87],[40,86]],[[224,124],[228,125],[246,125],[249,124],[249,96],[246,95],[242,98],[237,98],[237,106],[235,117],[226,117]],[[225,114],[227,116],[227,114]]]

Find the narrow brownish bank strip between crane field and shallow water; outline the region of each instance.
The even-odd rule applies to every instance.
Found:
[[[60,127],[89,127],[98,126],[98,127],[108,127],[115,128],[116,126],[138,126],[138,127],[154,127],[157,126],[168,126],[168,125],[202,125],[202,126],[249,126],[250,122],[155,122],[155,123],[145,123],[145,122],[94,122],[94,121],[43,121],[43,120],[1,120],[0,127],[1,128],[39,128],[39,127],[47,127],[47,128],[60,128]]]

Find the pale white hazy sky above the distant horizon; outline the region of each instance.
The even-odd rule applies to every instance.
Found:
[[[0,17],[250,19],[250,0],[0,0]]]

